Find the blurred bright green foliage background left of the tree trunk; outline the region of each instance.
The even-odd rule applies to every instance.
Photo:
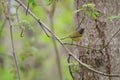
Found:
[[[30,9],[41,21],[50,26],[49,14],[44,8],[50,9],[50,0],[34,1],[34,4],[30,4]],[[27,5],[28,0],[22,0],[22,2]],[[18,9],[20,21],[18,24],[17,6],[18,4],[14,0],[10,0],[8,7],[11,13],[15,52],[20,67],[21,80],[59,80],[56,55],[51,38],[46,36],[39,24],[29,14],[26,16],[26,11],[22,7]],[[69,35],[74,30],[74,0],[57,1],[53,23],[55,33],[60,38]],[[22,29],[19,26],[22,26]],[[23,37],[21,37],[22,31]],[[65,41],[71,42],[71,40]],[[57,45],[64,80],[72,80],[68,70],[68,55],[58,42]],[[0,80],[17,80],[16,73],[9,25],[0,4]]]

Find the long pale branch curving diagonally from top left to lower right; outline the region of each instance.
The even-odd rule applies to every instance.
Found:
[[[20,4],[25,10],[27,9],[27,7],[20,1],[20,0],[15,0],[18,4]],[[78,61],[83,67],[85,67],[86,69],[103,75],[103,76],[110,76],[110,77],[120,77],[120,74],[107,74],[98,70],[95,70],[94,68],[92,68],[91,66],[83,63],[81,60],[79,60],[74,54],[72,54],[72,52],[70,52],[70,50],[64,45],[64,43],[60,40],[60,38],[54,34],[47,25],[45,25],[31,10],[28,10],[28,13],[40,24],[41,27],[45,28],[47,31],[49,31],[50,34],[52,34],[55,39],[62,45],[62,47],[67,51],[68,55],[71,55],[71,57],[73,57],[76,61]]]

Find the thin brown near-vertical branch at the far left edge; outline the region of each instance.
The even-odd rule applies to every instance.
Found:
[[[18,62],[17,62],[17,58],[16,58],[15,48],[14,48],[13,31],[12,31],[12,24],[11,24],[11,21],[10,21],[10,14],[7,11],[4,0],[2,0],[2,8],[3,8],[4,15],[6,17],[6,20],[8,21],[8,24],[9,24],[13,58],[14,58],[14,62],[15,62],[16,70],[17,70],[18,80],[21,80],[20,70],[19,70],[19,66],[18,66]]]

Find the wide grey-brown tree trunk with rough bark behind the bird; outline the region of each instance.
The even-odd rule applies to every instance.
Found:
[[[77,44],[95,49],[101,49],[104,47],[104,49],[101,51],[96,51],[92,49],[75,47],[74,54],[81,61],[91,65],[96,70],[108,74],[120,73],[120,33],[113,37],[119,29],[120,20],[108,20],[109,16],[118,15],[120,13],[120,0],[74,0],[75,10],[80,9],[82,5],[88,3],[95,4],[95,9],[97,9],[102,15],[96,19],[93,19],[87,13],[84,18],[82,11],[75,14],[75,28],[85,28],[84,37],[79,43],[77,42]],[[108,43],[109,45],[106,46]],[[81,65],[79,65],[78,68],[79,72],[73,73],[75,80],[119,80],[118,77],[111,78],[96,74]]]

